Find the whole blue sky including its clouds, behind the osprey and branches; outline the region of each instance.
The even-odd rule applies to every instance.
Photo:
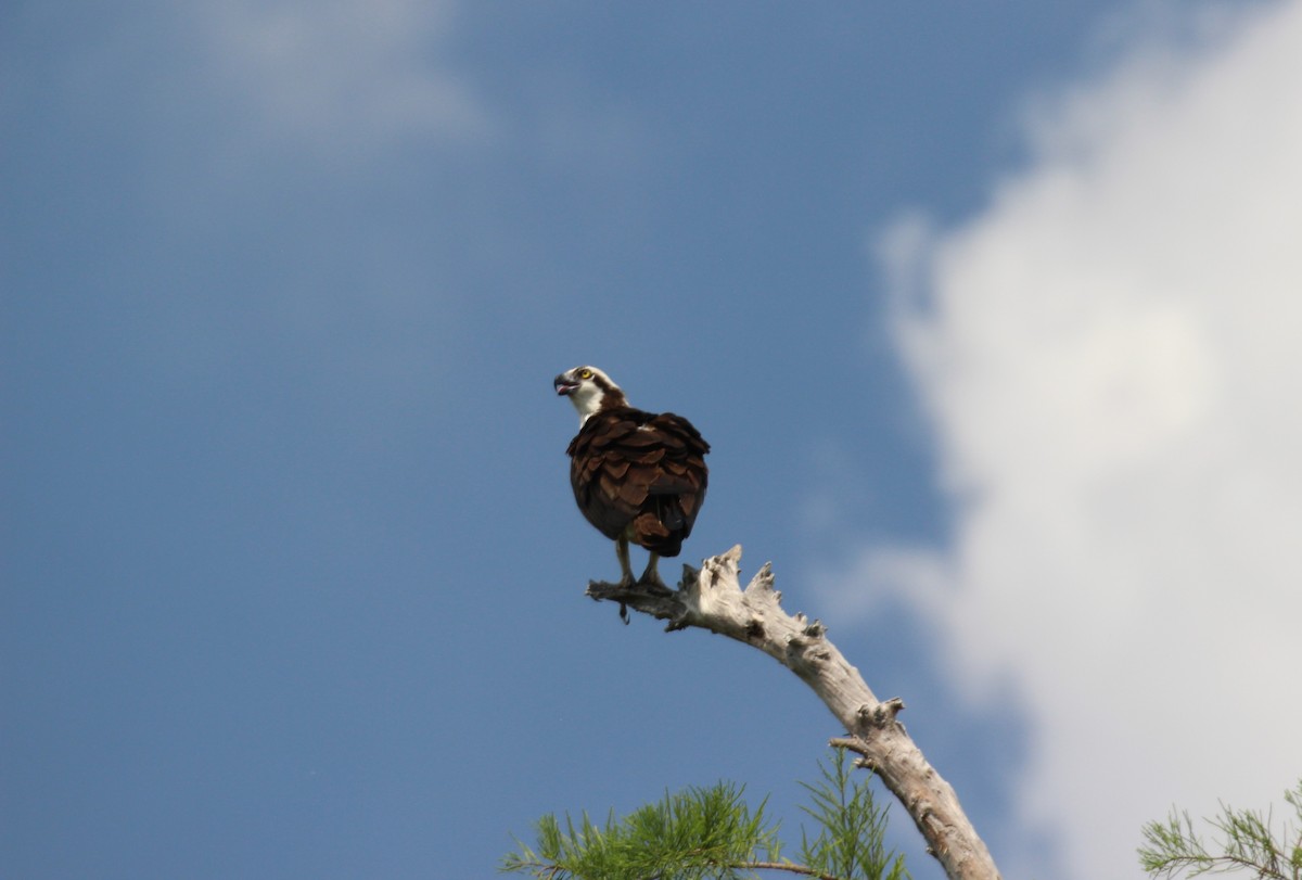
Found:
[[[1273,797],[1297,10],[10,4],[0,873],[491,876],[717,778],[794,831],[831,716],[582,596],[577,363],[695,422],[684,560],[772,560],[1005,875]],[[1126,670],[1234,657],[1207,773]]]

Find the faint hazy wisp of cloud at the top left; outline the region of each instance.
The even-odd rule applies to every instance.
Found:
[[[210,4],[219,76],[266,130],[358,152],[401,137],[482,134],[487,113],[440,61],[450,0],[242,0]]]

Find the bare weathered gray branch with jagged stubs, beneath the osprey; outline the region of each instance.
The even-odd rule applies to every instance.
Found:
[[[794,617],[779,604],[773,571],[766,562],[745,590],[738,581],[741,545],[702,564],[682,566],[677,590],[648,584],[621,587],[592,581],[587,595],[611,600],[659,620],[667,631],[691,626],[745,642],[794,672],[814,689],[846,737],[833,746],[849,749],[871,768],[904,804],[952,880],[999,880],[986,844],[976,836],[953,788],[932,769],[922,750],[905,733],[896,715],[904,702],[874,696],[859,670],[827,639],[825,627],[803,614]]]

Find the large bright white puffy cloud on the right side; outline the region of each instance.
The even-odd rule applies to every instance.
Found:
[[[975,698],[1014,682],[1062,850],[1008,876],[1139,876],[1172,803],[1302,776],[1302,3],[1254,9],[1042,100],[986,211],[878,242],[957,521],[859,583]]]

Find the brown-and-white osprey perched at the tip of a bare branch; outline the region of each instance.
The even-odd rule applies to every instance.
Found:
[[[639,583],[664,586],[661,556],[677,556],[706,500],[706,453],[691,422],[673,413],[629,406],[624,392],[596,367],[556,376],[556,393],[578,410],[570,440],[570,486],[583,517],[615,542],[620,584],[630,586],[629,542],[651,551]]]

